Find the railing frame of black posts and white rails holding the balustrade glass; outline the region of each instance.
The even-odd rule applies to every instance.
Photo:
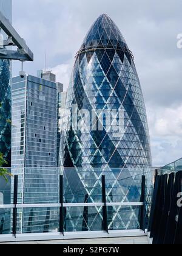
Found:
[[[13,190],[13,204],[0,205],[0,209],[9,209],[11,212],[11,232],[7,235],[2,235],[0,230],[0,242],[1,241],[27,241],[27,240],[50,240],[54,239],[69,239],[69,238],[86,238],[86,237],[105,237],[105,236],[135,236],[145,235],[145,197],[146,197],[146,176],[142,176],[141,183],[141,200],[140,202],[107,202],[106,199],[106,178],[102,176],[102,202],[81,202],[81,203],[67,203],[64,202],[64,186],[63,176],[59,177],[59,204],[18,204],[18,176],[14,176],[14,190]],[[64,226],[64,220],[66,218],[65,210],[68,207],[84,207],[85,211],[89,207],[102,207],[103,224],[101,230],[87,231],[87,232],[66,232]],[[138,230],[109,230],[108,227],[108,207],[140,207],[140,229]],[[50,210],[56,208],[58,210],[58,229],[56,232],[49,230],[45,233],[19,233],[17,232],[18,224],[18,210],[30,209],[30,208],[49,208]],[[47,220],[49,221],[49,220]],[[2,224],[1,224],[2,226]],[[31,227],[30,227],[31,229]]]

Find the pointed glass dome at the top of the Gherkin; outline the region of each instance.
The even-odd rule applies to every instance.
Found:
[[[90,27],[80,51],[88,48],[128,49],[120,29],[107,14],[100,15]]]

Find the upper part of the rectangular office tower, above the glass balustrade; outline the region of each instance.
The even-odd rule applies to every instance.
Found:
[[[54,82],[28,75],[13,78],[12,168],[56,166],[56,113]]]

